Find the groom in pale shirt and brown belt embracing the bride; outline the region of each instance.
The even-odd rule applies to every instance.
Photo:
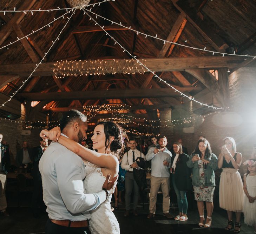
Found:
[[[70,110],[60,121],[61,135],[81,142],[86,139],[87,119],[84,114]],[[106,178],[98,193],[84,194],[83,179],[86,176],[82,159],[58,142],[52,142],[39,162],[42,175],[43,198],[49,219],[46,234],[90,233],[89,210],[106,200],[114,180]],[[111,189],[112,190],[112,189]]]

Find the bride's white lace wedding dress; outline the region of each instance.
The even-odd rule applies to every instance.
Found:
[[[88,162],[84,180],[85,193],[99,192],[105,180],[101,168]],[[92,218],[89,220],[89,227],[92,234],[120,234],[119,223],[111,211],[110,201],[111,196],[97,209],[90,211]]]

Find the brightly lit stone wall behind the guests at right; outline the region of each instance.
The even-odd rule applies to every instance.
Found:
[[[228,126],[239,119],[241,123],[235,127],[221,127],[213,122],[214,115],[205,117],[202,125],[195,127],[195,133],[185,134],[182,126],[175,127],[172,141],[183,139],[184,146],[192,152],[199,135],[205,135],[209,140],[212,151],[219,154],[219,147],[223,145],[223,138],[231,136],[237,143],[237,151],[243,155],[243,160],[251,157],[253,144],[256,143],[256,68],[240,68],[229,76],[230,111],[236,113],[231,116]],[[219,114],[220,115],[220,114]],[[223,113],[221,114],[223,116]],[[221,119],[219,118],[221,121]],[[170,139],[169,139],[170,141]]]

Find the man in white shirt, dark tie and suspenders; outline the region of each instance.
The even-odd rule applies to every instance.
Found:
[[[129,146],[130,150],[124,154],[123,160],[121,162],[121,167],[125,169],[127,172],[125,174],[125,209],[126,212],[124,216],[127,217],[130,214],[131,208],[131,194],[133,190],[133,215],[138,216],[137,213],[137,205],[139,201],[139,186],[137,185],[134,177],[133,177],[133,170],[137,170],[139,168],[137,163],[135,162],[137,158],[144,158],[145,155],[138,151],[137,142],[134,139],[130,139]]]

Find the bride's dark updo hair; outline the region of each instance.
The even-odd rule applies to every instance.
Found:
[[[104,133],[106,136],[105,146],[106,151],[109,151],[113,153],[120,153],[123,150],[123,132],[120,126],[112,121],[100,121],[96,124],[97,125],[103,125],[104,126]],[[114,140],[110,141],[110,137],[114,136]],[[107,152],[107,153],[110,153]]]

